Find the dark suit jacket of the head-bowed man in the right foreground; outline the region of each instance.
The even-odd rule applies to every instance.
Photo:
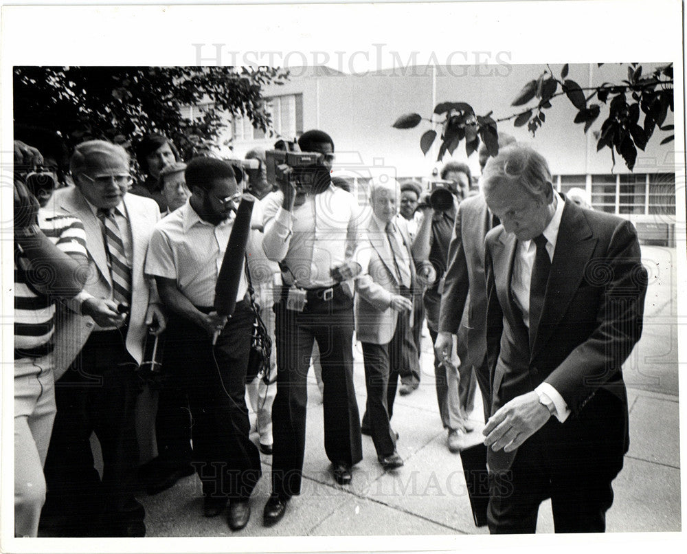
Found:
[[[585,417],[587,402],[604,389],[620,399],[627,420],[621,366],[642,334],[646,295],[632,223],[565,201],[531,352],[510,286],[516,246],[502,225],[486,236],[492,413],[546,381],[565,399],[570,418]],[[624,436],[609,439],[627,450],[627,425]]]

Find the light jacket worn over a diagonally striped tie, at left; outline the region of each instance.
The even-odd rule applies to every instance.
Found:
[[[124,206],[131,228],[133,250],[131,271],[131,313],[126,328],[126,349],[139,364],[143,359],[148,304],[158,302],[155,282],[144,278],[143,268],[150,234],[160,219],[157,203],[133,194],[124,195]],[[78,217],[86,230],[86,250],[89,256],[89,275],[84,292],[97,298],[112,298],[112,280],[107,267],[105,246],[100,221],[76,187],[59,190],[50,209],[57,214]],[[83,294],[83,293],[82,293]],[[55,375],[59,379],[88,340],[95,322],[88,315],[80,315],[80,301],[74,300],[58,306],[55,328]]]

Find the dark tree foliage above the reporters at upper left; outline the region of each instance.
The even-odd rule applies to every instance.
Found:
[[[128,146],[162,133],[189,157],[218,137],[227,113],[267,130],[262,88],[286,78],[269,67],[14,67],[14,122],[59,131],[70,146],[89,138]],[[199,104],[200,118],[181,116]]]

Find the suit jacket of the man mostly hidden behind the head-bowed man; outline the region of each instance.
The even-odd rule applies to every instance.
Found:
[[[491,212],[481,194],[460,203],[449,247],[439,313],[439,331],[457,335],[468,302],[468,354],[476,368],[482,365],[486,356],[484,238],[490,229]]]

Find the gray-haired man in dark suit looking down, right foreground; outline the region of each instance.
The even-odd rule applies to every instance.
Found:
[[[629,446],[622,364],[642,333],[646,270],[633,225],[578,208],[527,146],[482,176],[502,222],[486,236],[492,533],[605,531]]]

